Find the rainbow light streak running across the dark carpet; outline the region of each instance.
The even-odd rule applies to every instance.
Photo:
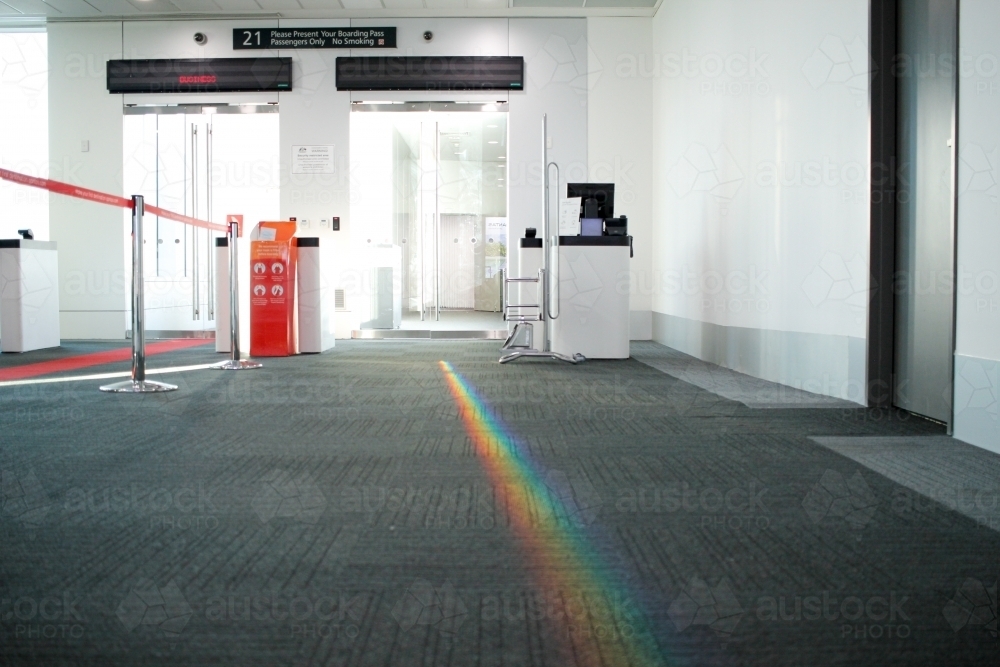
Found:
[[[493,418],[476,390],[450,363],[441,361],[440,366],[491,484],[506,492],[511,528],[533,569],[539,572],[539,586],[598,605],[630,598],[624,587],[611,580],[581,526],[566,520],[572,516],[572,508],[547,487],[546,471],[531,461],[528,452]],[[577,614],[571,614],[567,605],[562,618],[555,619],[564,626],[556,629],[578,664],[646,667],[665,663],[642,618],[620,618],[617,613],[596,614],[595,618],[591,604],[584,606],[586,611],[579,615],[586,618],[574,618]]]

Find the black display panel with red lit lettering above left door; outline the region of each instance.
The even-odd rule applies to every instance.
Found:
[[[238,93],[291,89],[291,58],[108,61],[109,93]]]

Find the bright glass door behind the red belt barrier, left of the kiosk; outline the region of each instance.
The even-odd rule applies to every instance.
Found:
[[[232,113],[241,109],[129,108],[123,119],[126,196],[141,194],[149,204],[213,222],[227,213],[243,214],[248,224],[275,219],[278,116]],[[153,215],[144,224],[147,330],[154,336],[214,330],[214,238],[222,233]]]

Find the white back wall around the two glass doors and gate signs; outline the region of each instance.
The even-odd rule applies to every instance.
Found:
[[[235,57],[232,28],[273,25],[270,21],[162,21],[122,23],[61,23],[50,27],[50,62],[62,63],[72,54],[88,64],[87,76],[75,78],[58,72],[50,75],[52,88],[50,127],[54,163],[72,157],[79,160],[79,141],[90,137],[91,153],[85,154],[86,168],[80,170],[81,184],[108,192],[121,191],[121,107],[125,103],[164,103],[187,101],[259,102],[273,101],[275,94],[132,95],[127,99],[109,95],[105,88],[104,67],[108,57]],[[293,58],[293,90],[277,94],[281,112],[281,215],[309,221],[309,235],[328,238],[334,243],[338,265],[338,287],[357,285],[356,258],[358,239],[363,230],[351,226],[352,188],[347,169],[350,155],[350,103],[355,100],[509,100],[509,238],[517,239],[525,227],[539,226],[541,217],[541,115],[549,114],[553,147],[549,159],[563,168],[565,175],[584,180],[587,173],[587,35],[585,19],[375,19],[375,20],[281,20],[281,27],[338,25],[395,25],[400,55],[513,55],[524,56],[527,83],[524,91],[512,93],[363,93],[352,95],[336,90],[334,61],[337,51],[282,51]],[[430,43],[421,34],[434,32]],[[191,36],[195,31],[208,35],[208,43],[199,47]],[[266,52],[256,52],[260,55]],[[360,51],[357,53],[361,53]],[[367,53],[367,52],[366,52]],[[385,52],[381,52],[385,53]],[[63,70],[65,67],[60,65]],[[54,68],[56,69],[56,68]],[[87,69],[85,67],[84,69]],[[86,128],[86,131],[84,131]],[[335,146],[337,174],[302,177],[290,173],[292,146]],[[98,148],[99,147],[99,148]],[[98,150],[95,151],[95,148]],[[95,153],[100,153],[100,161]],[[58,176],[53,176],[58,178]],[[55,199],[53,199],[55,202]],[[82,209],[80,207],[89,207]],[[121,285],[114,294],[84,295],[74,302],[63,300],[64,308],[88,311],[86,322],[64,312],[62,335],[68,337],[121,338],[125,328],[124,309],[124,236],[122,216],[112,209],[60,201],[53,204],[53,232],[56,216],[61,220],[80,219],[79,211],[93,210],[101,220],[117,221],[117,229],[96,229],[90,225],[75,232],[100,245],[91,253],[76,243],[61,246],[61,266],[71,270],[117,271]],[[339,216],[341,231],[319,227],[319,220]],[[76,239],[59,223],[62,238]],[[84,233],[80,230],[86,230]],[[53,238],[56,238],[55,236]],[[353,240],[352,240],[353,239]],[[56,239],[60,240],[60,239]],[[516,243],[516,241],[514,241]],[[77,249],[80,248],[80,251]],[[65,283],[65,281],[63,281]],[[352,296],[348,294],[348,306]],[[91,298],[93,297],[93,298]],[[103,312],[101,316],[98,313]],[[339,315],[339,335],[349,335],[360,321],[356,313]]]

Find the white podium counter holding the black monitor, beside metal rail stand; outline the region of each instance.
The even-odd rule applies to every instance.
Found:
[[[521,277],[542,264],[541,239],[521,239]],[[628,236],[559,237],[559,309],[552,321],[552,350],[588,359],[629,357]],[[526,268],[528,269],[525,272]],[[534,287],[534,285],[531,285]],[[534,290],[522,288],[523,298]],[[535,346],[541,344],[536,328]]]

